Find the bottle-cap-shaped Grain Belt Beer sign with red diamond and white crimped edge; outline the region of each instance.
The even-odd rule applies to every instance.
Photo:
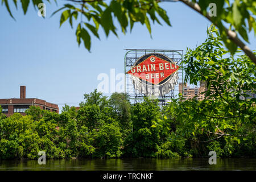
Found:
[[[166,55],[148,53],[127,72],[134,88],[146,96],[164,96],[177,84],[179,66]]]

